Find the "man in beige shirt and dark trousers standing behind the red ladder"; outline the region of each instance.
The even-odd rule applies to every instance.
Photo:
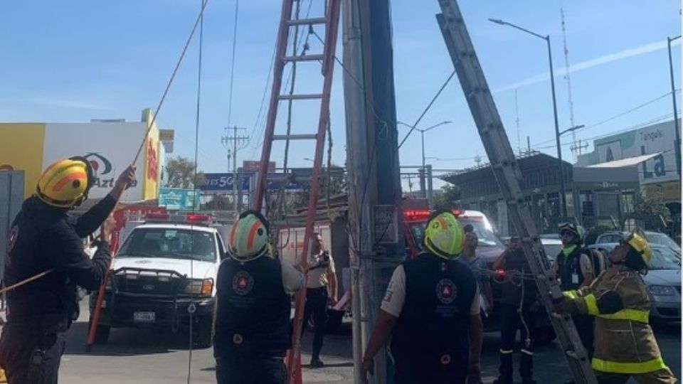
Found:
[[[320,351],[327,329],[327,306],[328,304],[333,306],[337,304],[337,274],[334,270],[334,259],[325,249],[325,244],[319,233],[313,234],[311,245],[311,256],[308,260],[308,279],[306,281],[304,325],[313,315],[314,334],[311,367],[322,368],[325,364],[320,360]]]

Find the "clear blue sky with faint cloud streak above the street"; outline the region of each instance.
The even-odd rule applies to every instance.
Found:
[[[310,1],[302,0],[302,15]],[[435,14],[438,1],[391,2],[397,118],[413,124],[452,72]],[[47,1],[6,0],[0,6],[0,121],[88,122],[96,118],[139,121],[145,107],[155,108],[189,36],[200,0]],[[250,136],[238,151],[238,164],[260,158],[268,112],[270,68],[280,1],[238,4],[233,98],[230,102],[231,52],[235,0],[209,0],[203,21],[200,169],[230,169],[221,144],[224,127],[245,129]],[[657,0],[461,0],[460,9],[477,50],[489,87],[514,149],[556,156],[554,119],[546,42],[499,18],[549,35],[554,60],[561,130],[571,127],[563,54],[560,9],[566,20],[574,124],[582,144],[648,122],[672,119],[667,36],[681,33],[679,1]],[[312,6],[310,16],[317,15]],[[322,36],[322,33],[321,33]],[[309,36],[310,52],[319,48]],[[342,57],[342,38],[337,55]],[[674,77],[681,87],[680,39],[674,42]],[[198,33],[191,41],[171,84],[157,122],[176,130],[176,155],[194,157]],[[300,65],[297,92],[319,92],[319,65]],[[318,67],[314,67],[318,65]],[[285,79],[290,78],[285,70]],[[332,158],[346,157],[343,69],[337,65],[332,85]],[[266,95],[265,104],[262,102]],[[678,100],[681,99],[680,93]],[[645,105],[640,107],[641,105]],[[636,108],[637,107],[637,108]],[[319,110],[299,102],[292,114],[295,133],[314,132]],[[277,127],[285,125],[281,104]],[[628,113],[625,113],[628,112]],[[425,156],[434,169],[462,169],[486,161],[462,90],[454,77],[418,127],[450,121],[425,134]],[[399,137],[408,128],[398,126]],[[281,131],[280,131],[281,132]],[[563,137],[563,157],[576,159],[572,137]],[[400,149],[401,165],[420,164],[420,136],[415,132]],[[290,149],[290,166],[310,166],[311,143]],[[275,146],[272,159],[282,164]],[[477,159],[478,158],[478,159]],[[436,183],[437,186],[440,183]],[[408,189],[408,181],[403,182]],[[413,186],[416,188],[416,186]]]

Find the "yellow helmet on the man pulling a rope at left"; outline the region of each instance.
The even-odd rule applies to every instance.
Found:
[[[36,195],[49,206],[75,208],[88,198],[95,175],[87,159],[72,157],[55,161],[38,179]]]

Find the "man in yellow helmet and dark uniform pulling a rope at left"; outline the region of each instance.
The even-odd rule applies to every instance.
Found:
[[[90,260],[82,237],[110,215],[134,183],[134,167],[124,171],[110,194],[79,220],[68,211],[88,198],[95,182],[82,157],[56,161],[38,180],[36,193],[23,202],[9,234],[4,284],[36,274],[43,277],[7,292],[8,316],[0,338],[0,366],[10,384],[57,383],[65,333],[78,318],[78,288],[100,288],[111,254],[113,219],[102,225],[97,252]]]

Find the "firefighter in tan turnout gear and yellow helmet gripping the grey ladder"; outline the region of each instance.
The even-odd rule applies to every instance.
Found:
[[[648,324],[650,299],[642,281],[652,250],[642,235],[632,233],[610,253],[612,266],[590,287],[564,292],[559,314],[595,316],[592,366],[600,384],[673,384]]]

